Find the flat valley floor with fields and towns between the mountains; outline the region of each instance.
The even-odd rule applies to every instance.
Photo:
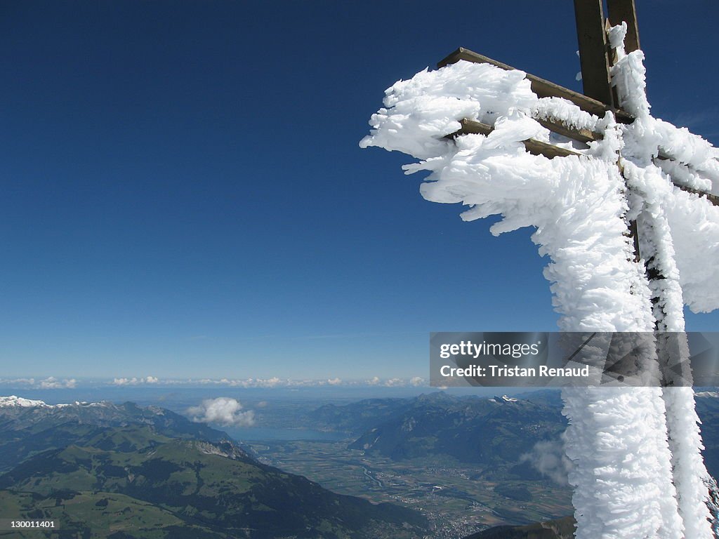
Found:
[[[393,461],[347,448],[349,441],[253,441],[260,461],[301,474],[339,494],[421,510],[434,537],[456,539],[499,524],[525,524],[572,514],[571,491],[549,480],[494,479],[486,469],[447,459]],[[502,484],[505,495],[495,492]],[[513,499],[506,487],[525,488]],[[527,496],[520,496],[526,498]]]

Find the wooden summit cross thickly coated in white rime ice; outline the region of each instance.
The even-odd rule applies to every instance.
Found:
[[[610,24],[574,7],[584,94],[459,49],[389,88],[361,145],[416,157],[424,198],[493,234],[534,227],[562,330],[683,331],[684,303],[719,307],[719,151],[651,116],[633,0]],[[713,538],[691,387],[563,397],[577,539]]]

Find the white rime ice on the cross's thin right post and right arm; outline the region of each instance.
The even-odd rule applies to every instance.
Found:
[[[610,40],[614,40],[617,54],[617,61],[612,68],[612,82],[620,105],[636,117],[631,125],[626,126],[623,137],[625,147],[620,165],[623,166],[628,188],[635,195],[633,212],[636,213],[638,224],[640,252],[648,271],[660,277],[649,282],[654,300],[656,328],[659,331],[683,332],[684,303],[697,309],[697,270],[699,282],[710,285],[710,281],[706,280],[707,276],[702,275],[702,272],[706,273],[702,269],[707,266],[715,267],[717,260],[705,258],[695,267],[691,267],[687,265],[687,257],[691,259],[692,254],[695,254],[692,253],[692,247],[698,247],[697,237],[701,238],[702,244],[713,242],[716,249],[719,235],[712,235],[710,229],[719,221],[711,218],[711,215],[719,217],[719,212],[716,211],[718,208],[706,199],[689,195],[674,185],[674,180],[667,174],[667,167],[657,164],[655,157],[661,157],[664,153],[674,158],[675,162],[693,167],[697,170],[696,175],[692,174],[694,178],[687,175],[686,172],[690,170],[690,167],[687,167],[687,170],[679,173],[678,183],[690,183],[691,187],[697,188],[700,186],[700,170],[711,170],[713,165],[707,165],[707,162],[713,161],[719,155],[708,142],[691,134],[687,129],[677,129],[649,114],[644,54],[641,50],[625,53],[623,43],[616,42],[617,36],[625,32],[624,24],[614,27],[610,32]],[[681,165],[669,167],[669,170],[672,169],[677,172],[681,170]],[[701,185],[702,188],[712,186],[710,178],[705,178],[704,185]],[[687,201],[691,203],[687,204]],[[693,230],[687,229],[683,223],[677,226],[677,221],[684,221],[685,218],[676,211],[672,214],[672,208],[676,210],[677,207],[695,215],[698,212],[704,218],[701,222],[694,220],[692,224],[696,228]],[[692,211],[692,208],[695,210]],[[690,248],[684,248],[682,252],[683,247],[680,247],[677,252],[674,246],[682,246],[684,241],[690,242]],[[703,248],[702,254],[706,257],[707,253]],[[704,303],[707,295],[712,294],[702,290],[699,308],[716,308],[719,295],[716,295],[717,287],[711,288],[715,290],[714,297],[708,298]],[[660,337],[660,341],[661,339]],[[675,349],[674,353],[669,353],[666,346],[660,346],[659,349],[659,361],[664,364],[682,364],[689,358],[689,346],[682,334],[679,335],[678,349]],[[672,372],[672,369],[665,370]],[[684,373],[684,376],[690,378],[691,373]],[[708,474],[701,456],[704,447],[695,410],[694,392],[691,387],[667,387],[662,397],[666,410],[669,450],[672,455],[672,476],[677,489],[677,505],[682,517],[684,537],[712,539],[712,516],[707,507]]]

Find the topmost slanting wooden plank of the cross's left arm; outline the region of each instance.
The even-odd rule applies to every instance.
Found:
[[[445,57],[444,60],[441,60],[441,62],[437,64],[437,67],[443,68],[445,65],[457,63],[459,60],[465,60],[472,63],[487,63],[505,70],[515,69],[510,65],[498,62],[497,60],[493,60],[485,55],[480,55],[479,53],[465,49],[464,47],[459,47],[459,49],[452,52],[451,55]],[[544,78],[531,75],[530,73],[527,73],[526,78],[531,82],[532,91],[539,97],[561,97],[572,101],[572,103],[577,105],[583,111],[587,111],[590,114],[595,114],[595,116],[600,117],[604,116],[606,111],[613,111],[617,121],[623,124],[631,124],[631,122],[634,121],[630,114],[619,109],[614,109],[612,106],[608,106],[601,101],[597,101],[597,99],[587,97],[582,93],[569,90],[569,88],[564,88],[563,86],[554,84]]]

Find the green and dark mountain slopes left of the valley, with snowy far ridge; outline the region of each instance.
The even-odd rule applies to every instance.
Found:
[[[418,512],[329,492],[260,464],[221,431],[159,407],[0,398],[0,455],[0,515],[57,520],[52,538],[427,533]]]

